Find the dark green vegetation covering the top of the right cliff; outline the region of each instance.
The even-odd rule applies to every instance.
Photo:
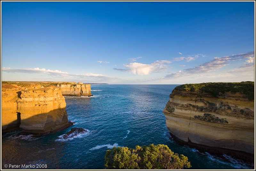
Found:
[[[183,84],[175,87],[174,90],[200,91],[210,93],[217,97],[219,92],[243,93],[248,100],[254,99],[254,82],[206,82],[199,84]]]

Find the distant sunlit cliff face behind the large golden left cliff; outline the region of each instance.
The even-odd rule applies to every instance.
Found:
[[[60,84],[63,96],[92,96],[91,84]]]

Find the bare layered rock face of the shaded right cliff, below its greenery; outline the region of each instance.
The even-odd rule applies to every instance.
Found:
[[[243,93],[174,89],[163,112],[183,142],[254,154],[254,100]]]

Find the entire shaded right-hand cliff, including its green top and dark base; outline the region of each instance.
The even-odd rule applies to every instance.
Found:
[[[163,112],[177,142],[254,161],[254,82],[177,86]]]

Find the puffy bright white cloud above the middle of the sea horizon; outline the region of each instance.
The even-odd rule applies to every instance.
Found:
[[[171,61],[161,60],[161,61],[155,61],[151,64],[143,64],[143,63],[137,63],[132,62],[127,65],[124,65],[127,69],[120,69],[120,68],[113,68],[117,71],[123,71],[123,72],[131,72],[135,75],[148,75],[152,72],[162,72],[169,68],[167,63],[171,63]]]

